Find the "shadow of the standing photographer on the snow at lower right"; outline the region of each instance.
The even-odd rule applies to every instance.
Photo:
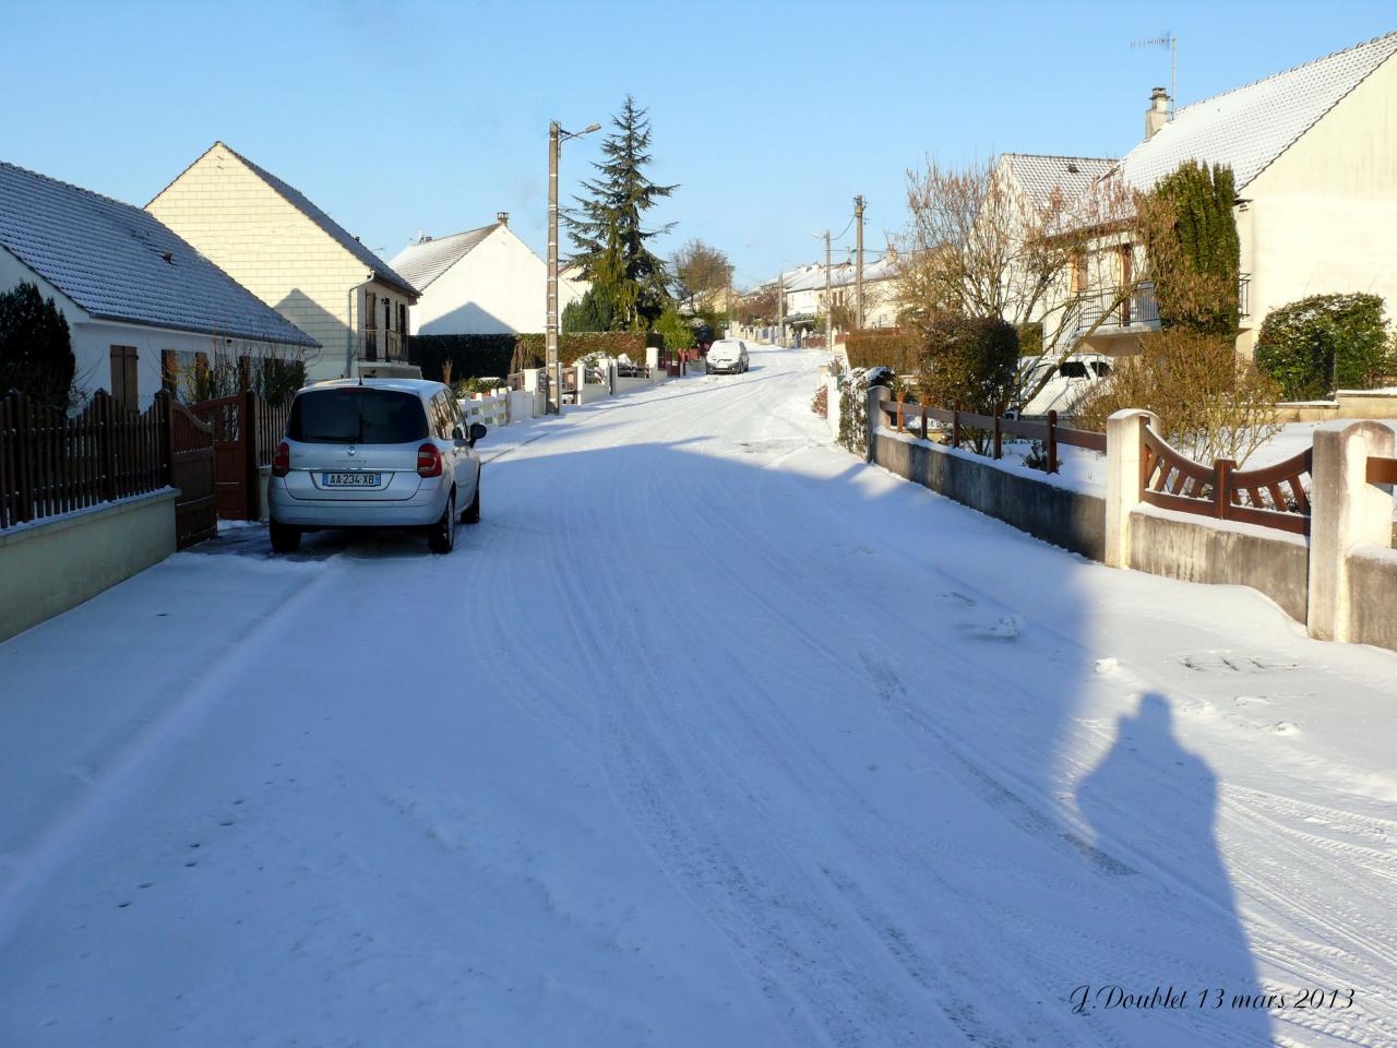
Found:
[[[1169,703],[1157,693],[1141,696],[1139,710],[1119,720],[1111,752],[1077,784],[1077,806],[1095,831],[1097,848],[1129,857],[1139,871],[1119,882],[1127,893],[1119,903],[1132,914],[1130,926],[1118,925],[1106,935],[1150,971],[1148,985],[1126,989],[1150,991],[1158,981],[1187,991],[1186,1007],[1169,1017],[1129,1019],[1120,1009],[1105,1019],[1111,1026],[1129,1023],[1150,1044],[1161,1034],[1165,1040],[1158,1042],[1168,1044],[1165,1031],[1176,1031],[1179,1021],[1210,1044],[1218,1037],[1238,1048],[1273,1044],[1266,1007],[1245,1003],[1261,988],[1218,852],[1217,792],[1217,776],[1179,745]],[[1143,885],[1143,878],[1153,886]],[[1126,982],[1105,971],[1098,978]],[[1208,995],[1200,1006],[1204,989]],[[1235,1006],[1235,999],[1243,1003]]]

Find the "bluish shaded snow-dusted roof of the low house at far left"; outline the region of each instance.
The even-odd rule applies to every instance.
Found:
[[[320,345],[148,211],[3,161],[0,246],[94,317]]]

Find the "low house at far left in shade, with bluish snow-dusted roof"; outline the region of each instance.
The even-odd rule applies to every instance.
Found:
[[[320,348],[141,208],[0,162],[0,289],[24,282],[68,321],[74,388],[127,408],[200,356]]]

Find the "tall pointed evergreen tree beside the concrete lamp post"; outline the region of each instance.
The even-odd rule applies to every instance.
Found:
[[[658,186],[644,168],[651,161],[647,110],[626,95],[616,127],[602,143],[604,159],[592,166],[599,177],[583,183],[585,197],[574,197],[577,214],[564,215],[573,239],[573,261],[610,302],[613,326],[650,328],[669,298],[664,260],[647,247],[651,238],[673,224],[647,229],[643,215],[678,186]]]

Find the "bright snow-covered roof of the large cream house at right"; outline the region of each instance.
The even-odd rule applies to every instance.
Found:
[[[1232,168],[1241,190],[1397,52],[1397,32],[1255,84],[1183,106],[1122,161],[1126,182],[1151,189],[1180,163]]]

